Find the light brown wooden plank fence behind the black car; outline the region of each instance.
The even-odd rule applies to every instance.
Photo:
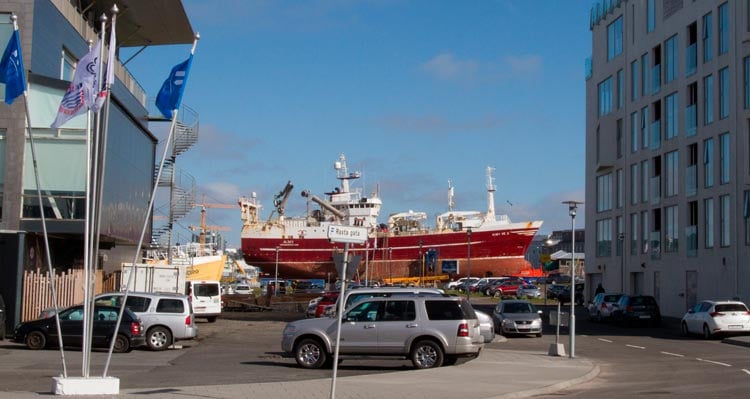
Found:
[[[83,302],[84,275],[82,269],[70,269],[53,276],[57,292],[57,306],[64,308]],[[94,277],[94,294],[102,292],[103,272],[96,271]],[[21,303],[21,321],[33,320],[39,313],[54,306],[52,290],[50,289],[50,275],[26,270],[23,273],[23,300]]]

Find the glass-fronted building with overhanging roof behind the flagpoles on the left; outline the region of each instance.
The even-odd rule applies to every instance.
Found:
[[[145,57],[147,53],[137,50],[191,44],[195,32],[180,0],[0,2],[3,49],[13,32],[11,15],[18,18],[28,79],[28,122],[42,192],[40,207],[25,102],[19,97],[10,106],[0,104],[0,292],[10,302],[9,308],[18,307],[21,272],[47,268],[40,208],[47,222],[52,266],[64,270],[83,264],[86,169],[90,159],[86,117],[78,116],[60,129],[50,125],[78,60],[89,51],[87,41],[98,41],[100,17],[107,15],[111,20],[115,3],[120,10],[116,24],[118,60],[103,150],[106,166],[102,172],[100,256],[93,262],[98,268],[119,268],[121,262],[132,262],[144,221],[152,218],[148,202],[155,184],[157,138],[150,123],[159,118],[149,115],[148,99],[151,96],[152,103],[159,88],[149,88],[154,91],[149,93],[141,87],[119,59],[119,51],[135,48],[134,56]],[[109,25],[105,30],[109,31]],[[165,78],[172,66],[163,66]],[[5,93],[2,84],[0,93]],[[149,233],[150,228],[147,241],[151,240]]]

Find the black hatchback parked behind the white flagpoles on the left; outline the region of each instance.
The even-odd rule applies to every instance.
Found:
[[[94,307],[94,325],[91,337],[93,348],[109,348],[120,308],[114,306]],[[60,331],[64,346],[80,347],[83,341],[83,305],[71,306],[60,312]],[[29,349],[42,349],[58,344],[55,316],[21,323],[16,327],[16,342],[26,344]],[[129,352],[146,344],[143,326],[132,311],[125,309],[122,323],[115,340],[114,352]]]

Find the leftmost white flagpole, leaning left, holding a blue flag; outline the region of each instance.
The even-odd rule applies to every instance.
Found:
[[[13,21],[13,30],[15,32],[18,31],[18,16],[16,14],[11,15],[10,19]],[[20,49],[20,47],[19,47]],[[19,54],[19,58],[21,58],[21,55]],[[50,256],[50,249],[49,249],[49,236],[47,234],[47,220],[44,217],[44,206],[42,204],[42,190],[40,188],[40,182],[39,182],[39,165],[37,164],[36,159],[36,147],[34,145],[34,134],[32,133],[31,129],[31,112],[29,110],[29,93],[26,90],[26,82],[23,82],[24,84],[24,90],[23,90],[23,104],[24,108],[26,110],[26,130],[28,131],[29,135],[29,146],[31,147],[31,159],[32,163],[34,164],[34,180],[36,182],[36,197],[37,202],[39,202],[39,214],[42,221],[42,234],[44,236],[44,252],[45,252],[45,260],[47,261],[47,273],[49,274],[49,285],[50,285],[50,291],[52,294],[52,306],[55,308],[55,327],[57,328],[57,344],[60,348],[60,358],[62,361],[63,366],[63,377],[68,376],[68,368],[65,363],[65,350],[63,349],[62,344],[62,334],[60,333],[60,315],[59,315],[59,304],[57,302],[57,290],[55,289],[55,274],[54,270],[52,269],[52,258]]]

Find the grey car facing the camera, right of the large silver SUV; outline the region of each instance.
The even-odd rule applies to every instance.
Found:
[[[503,335],[542,336],[542,311],[524,300],[505,300],[492,313],[495,330]]]

